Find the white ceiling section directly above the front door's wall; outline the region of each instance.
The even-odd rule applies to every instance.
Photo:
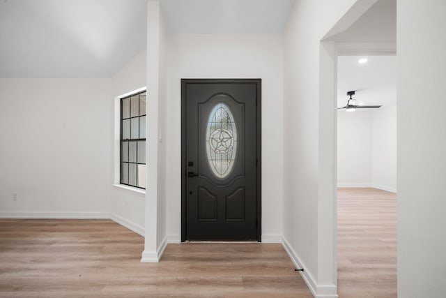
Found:
[[[161,0],[169,33],[281,33],[294,0]]]

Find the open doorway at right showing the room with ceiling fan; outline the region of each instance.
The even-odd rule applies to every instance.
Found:
[[[337,107],[338,292],[397,297],[396,56],[339,55]]]

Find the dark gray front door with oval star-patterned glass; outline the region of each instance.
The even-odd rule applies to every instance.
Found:
[[[182,240],[260,241],[260,80],[182,80]]]

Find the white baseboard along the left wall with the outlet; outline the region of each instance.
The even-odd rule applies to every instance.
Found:
[[[0,218],[109,219],[105,212],[0,212]]]

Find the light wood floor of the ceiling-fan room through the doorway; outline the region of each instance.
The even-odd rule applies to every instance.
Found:
[[[338,189],[340,298],[397,297],[396,194]]]

